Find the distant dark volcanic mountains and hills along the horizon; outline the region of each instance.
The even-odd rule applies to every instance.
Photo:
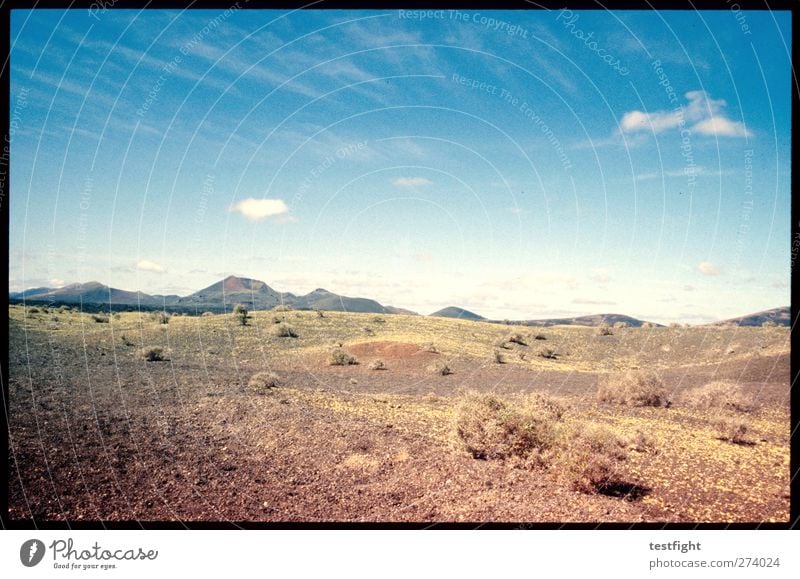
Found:
[[[403,308],[384,306],[372,299],[342,296],[322,288],[317,288],[305,295],[279,292],[263,281],[233,275],[188,296],[150,295],[140,291],[112,288],[92,281],[74,283],[61,288],[39,287],[22,292],[11,292],[8,297],[12,303],[24,301],[53,305],[80,304],[81,308],[86,311],[166,309],[168,311],[186,313],[226,312],[232,310],[236,304],[244,304],[251,310],[269,310],[275,306],[285,305],[297,310],[418,315],[416,312]],[[487,320],[483,316],[456,306],[438,310],[430,315],[474,321],[498,321]],[[790,325],[791,313],[789,308],[782,307],[765,310],[717,323],[760,326],[766,321],[774,322],[779,326]],[[631,327],[639,327],[644,323],[642,320],[621,314],[596,314],[574,318],[523,320],[506,323],[546,327],[554,325],[599,326],[603,324],[613,325],[616,322],[625,322]]]

